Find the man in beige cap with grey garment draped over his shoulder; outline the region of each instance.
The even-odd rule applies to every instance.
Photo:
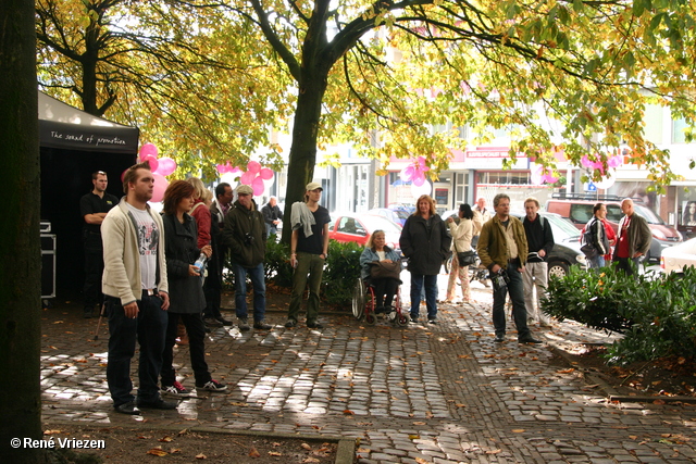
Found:
[[[309,286],[307,304],[307,327],[322,328],[319,317],[319,290],[324,273],[324,262],[328,254],[328,210],[319,204],[323,188],[321,184],[309,183],[304,188],[304,201],[293,203],[290,225],[290,265],[295,267],[293,275],[293,296],[285,327],[297,325],[297,316],[304,287]]]

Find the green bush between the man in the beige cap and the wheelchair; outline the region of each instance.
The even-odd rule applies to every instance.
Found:
[[[322,279],[322,296],[333,306],[350,308],[352,289],[360,277],[360,254],[363,248],[355,242],[328,242],[328,258]]]

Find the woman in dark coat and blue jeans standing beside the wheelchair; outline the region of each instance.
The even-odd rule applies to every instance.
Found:
[[[449,254],[451,236],[427,195],[418,199],[415,212],[406,220],[399,244],[411,273],[411,322],[417,323],[421,291],[425,286],[427,322],[437,324],[437,274]]]

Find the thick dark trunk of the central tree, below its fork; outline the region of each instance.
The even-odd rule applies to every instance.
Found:
[[[315,72],[300,85],[293,126],[293,145],[287,166],[285,192],[285,224],[290,225],[293,203],[304,198],[304,187],[314,176],[316,164],[316,136],[322,113],[322,100],[326,91],[328,70]],[[291,227],[283,227],[282,241],[290,242]]]

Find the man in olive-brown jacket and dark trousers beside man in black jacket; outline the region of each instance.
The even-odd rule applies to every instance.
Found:
[[[510,197],[507,195],[496,195],[493,199],[493,208],[496,215],[483,225],[476,250],[478,258],[481,258],[481,264],[488,268],[492,278],[495,278],[502,269],[510,278],[506,287],[493,290],[495,341],[505,341],[505,300],[506,293],[509,293],[510,300],[512,300],[514,325],[518,329],[518,341],[520,343],[540,343],[539,340],[532,337],[526,325],[522,274],[529,249],[524,226],[520,220],[510,216]]]

